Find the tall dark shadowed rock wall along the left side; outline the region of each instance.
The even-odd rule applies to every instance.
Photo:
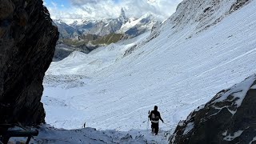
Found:
[[[0,123],[44,122],[42,80],[58,29],[42,0],[1,0],[0,38]]]

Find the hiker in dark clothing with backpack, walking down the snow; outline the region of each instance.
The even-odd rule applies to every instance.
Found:
[[[163,122],[161,115],[158,111],[158,106],[154,106],[154,110],[150,112],[149,115],[150,121],[151,121],[151,129],[152,133],[158,135],[159,130],[159,119]]]

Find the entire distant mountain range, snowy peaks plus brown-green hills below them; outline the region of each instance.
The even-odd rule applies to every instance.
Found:
[[[151,30],[158,23],[156,19],[153,14],[144,14],[141,18],[127,18],[122,9],[118,18],[84,19],[70,25],[62,22],[61,19],[54,20],[60,32],[54,61],[66,58],[73,51],[88,54],[99,46],[134,38]]]

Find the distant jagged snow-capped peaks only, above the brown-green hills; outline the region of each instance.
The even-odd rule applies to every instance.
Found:
[[[67,25],[61,20],[55,20],[55,24],[60,31],[60,38],[75,38],[78,35],[96,34],[104,36],[106,34],[121,33],[130,37],[137,36],[150,30],[154,23],[158,22],[152,14],[145,14],[142,18],[127,18],[122,9],[118,18],[106,18],[99,20],[84,19],[81,22],[75,21]]]

